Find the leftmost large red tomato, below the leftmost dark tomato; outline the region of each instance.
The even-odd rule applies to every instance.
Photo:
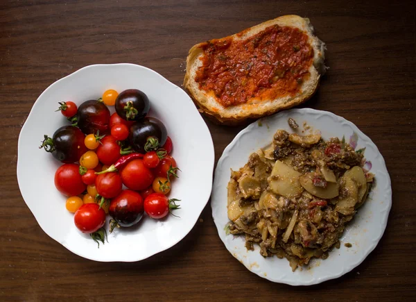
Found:
[[[64,164],[55,172],[55,187],[66,196],[77,196],[87,187],[79,173],[79,165]]]

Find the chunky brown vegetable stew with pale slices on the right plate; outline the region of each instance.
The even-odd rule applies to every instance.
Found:
[[[363,152],[337,137],[278,130],[228,183],[229,232],[259,244],[264,257],[287,258],[295,271],[339,248],[345,225],[367,199],[374,174]]]

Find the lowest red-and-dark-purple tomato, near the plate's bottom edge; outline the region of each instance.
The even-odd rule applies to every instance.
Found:
[[[135,191],[123,190],[112,199],[108,212],[119,226],[134,226],[143,217],[143,199]]]

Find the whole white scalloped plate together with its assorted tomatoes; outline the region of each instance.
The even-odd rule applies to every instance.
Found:
[[[91,65],[56,81],[19,135],[28,208],[91,260],[139,261],[182,240],[213,169],[211,134],[187,93],[139,65]]]

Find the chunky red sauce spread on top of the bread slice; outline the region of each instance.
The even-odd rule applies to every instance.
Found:
[[[296,94],[313,60],[308,36],[278,25],[245,40],[207,42],[203,51],[195,81],[225,107]]]

